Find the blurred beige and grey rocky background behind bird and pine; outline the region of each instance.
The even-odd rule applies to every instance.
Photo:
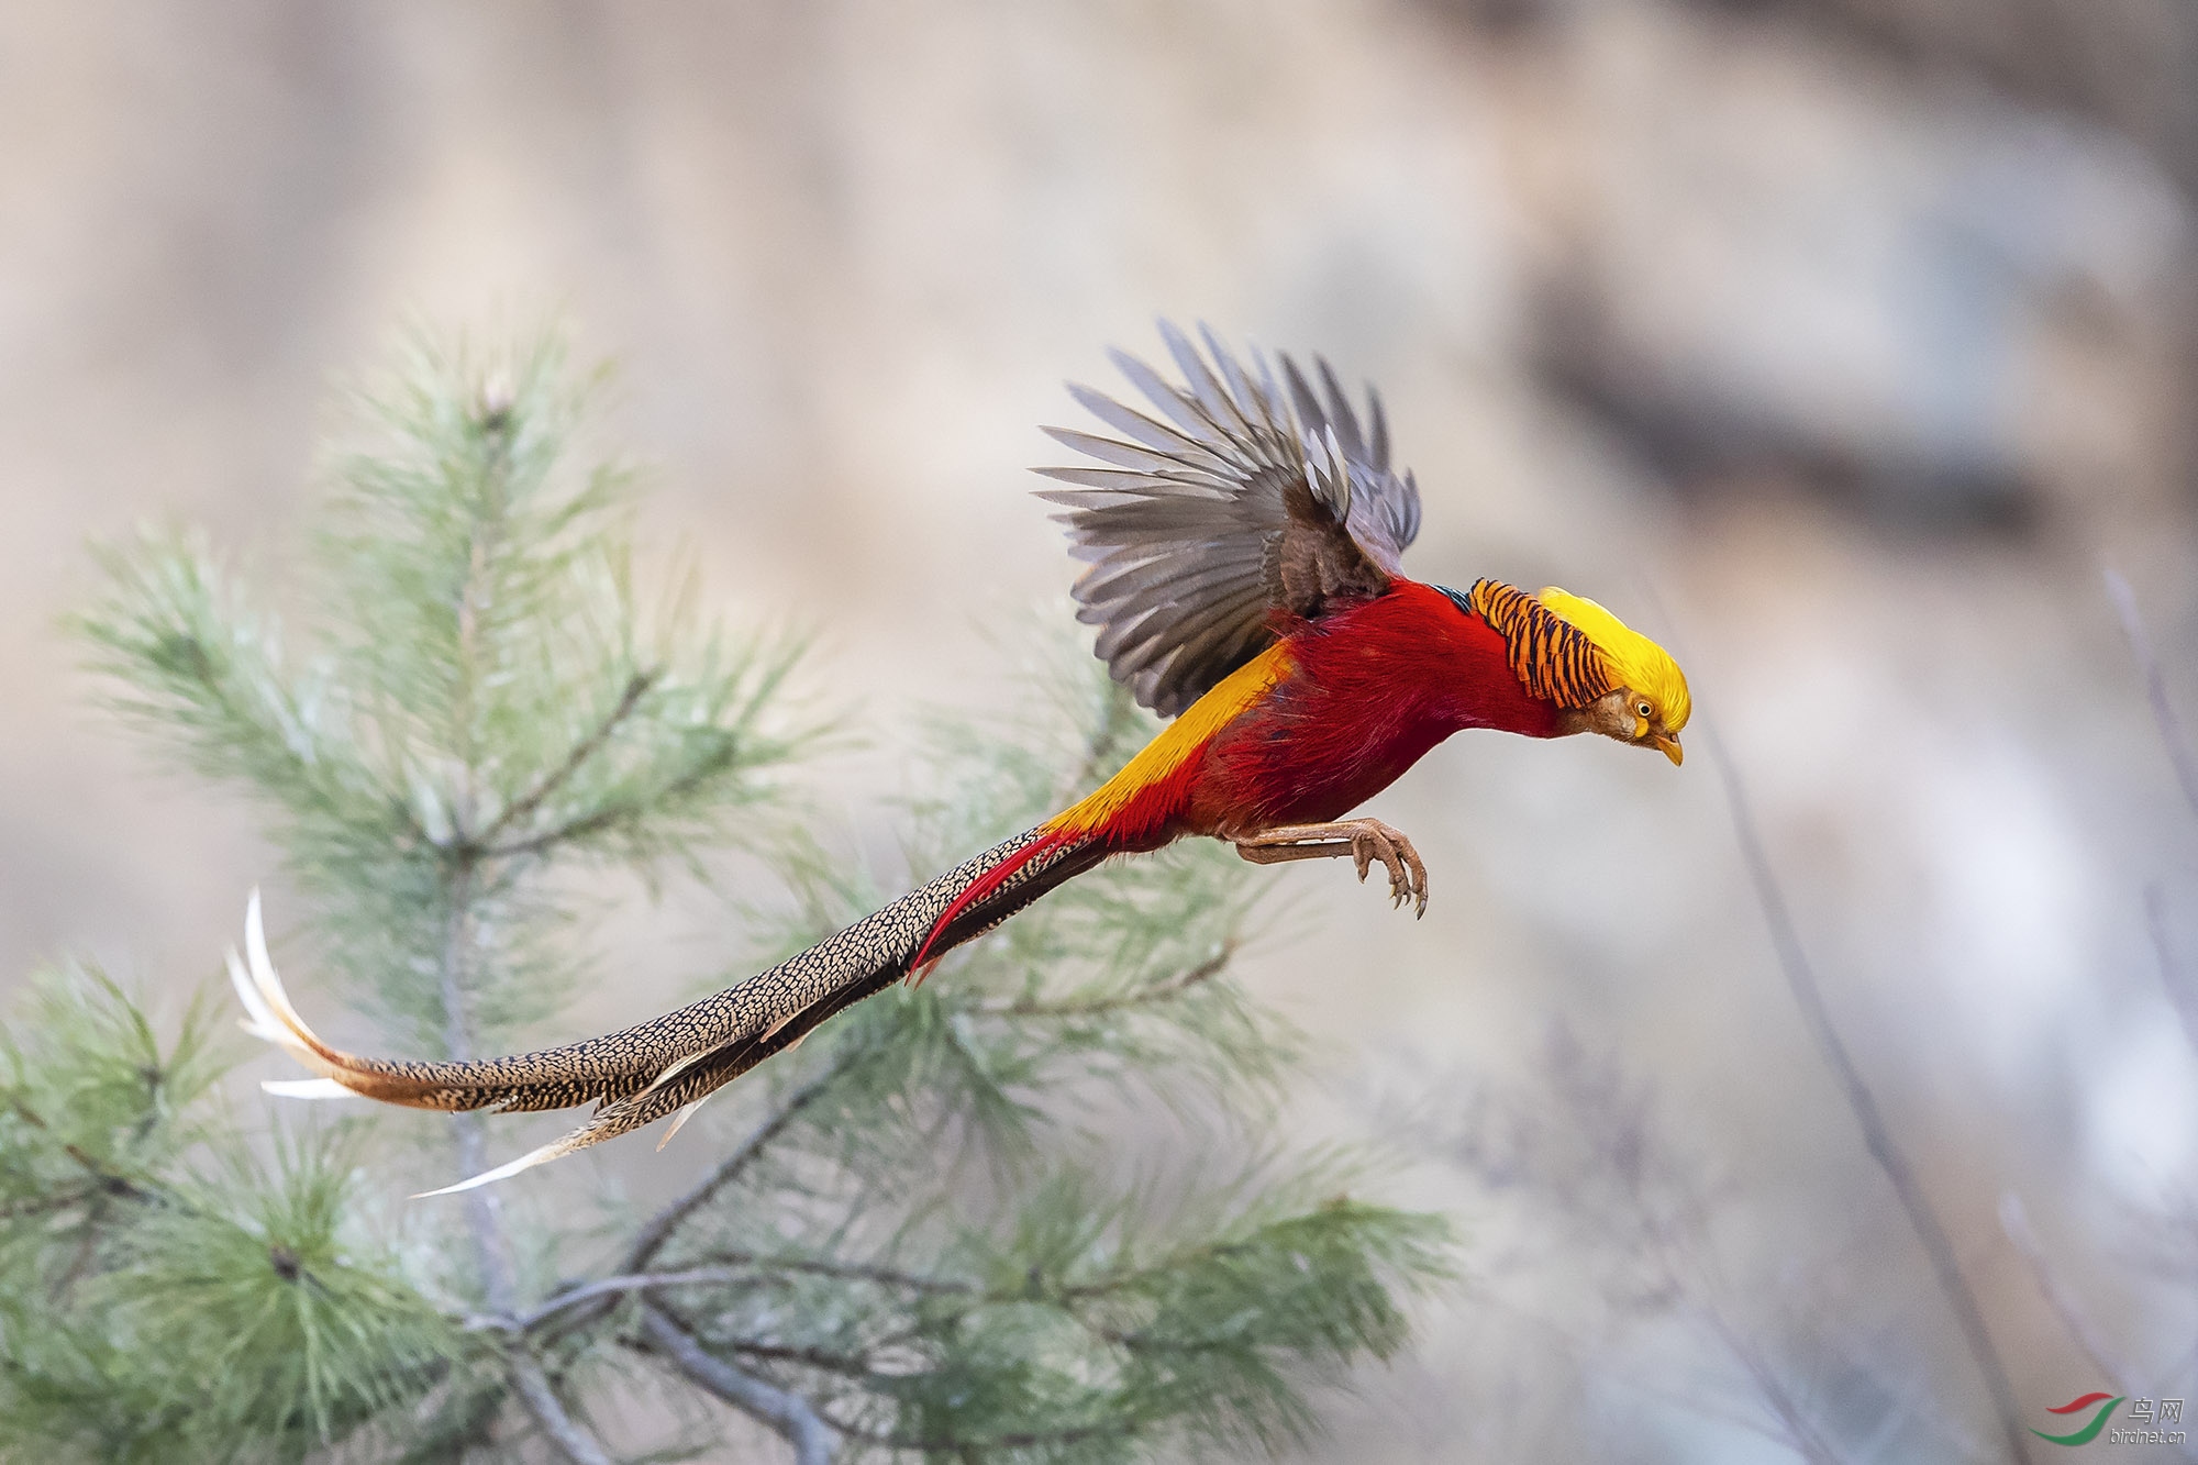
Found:
[[[1706,732],[2020,1423],[2198,1423],[2198,805],[2103,579],[2198,722],[2187,0],[11,7],[0,178],[0,981],[233,939],[251,809],[55,623],[141,519],[279,576],[407,321],[618,363],[648,537],[815,634],[870,743],[813,783],[886,849],[910,713],[1068,625],[1059,381],[1207,319],[1383,385],[1413,574],[1591,594],[1699,708],[1679,772],[1429,757],[1372,805],[1420,924],[1264,875],[1306,1131],[1468,1236],[1321,1458],[2007,1458]],[[721,961],[717,911],[629,913],[578,1018]]]

